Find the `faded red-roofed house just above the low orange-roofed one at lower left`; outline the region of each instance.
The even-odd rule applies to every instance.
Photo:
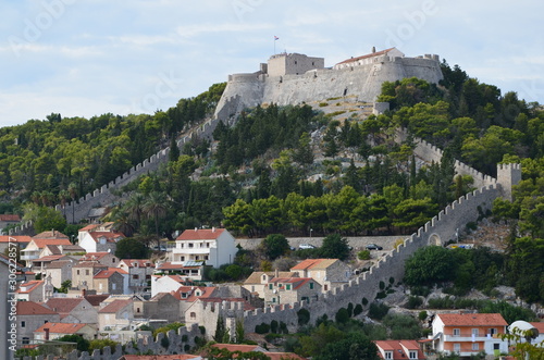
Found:
[[[50,298],[45,306],[60,315],[59,322],[96,325],[98,311],[85,298]]]

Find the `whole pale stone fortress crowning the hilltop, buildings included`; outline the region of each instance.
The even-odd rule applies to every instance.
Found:
[[[396,48],[375,51],[324,66],[323,58],[300,53],[272,55],[255,73],[228,75],[228,83],[215,109],[215,119],[225,120],[246,108],[262,103],[299,104],[337,97],[356,97],[373,102],[384,82],[418,77],[429,83],[442,78],[435,54],[407,58]]]

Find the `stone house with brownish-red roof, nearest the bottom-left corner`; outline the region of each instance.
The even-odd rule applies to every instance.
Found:
[[[17,340],[29,344],[34,332],[48,322],[60,322],[53,310],[34,301],[17,301]]]

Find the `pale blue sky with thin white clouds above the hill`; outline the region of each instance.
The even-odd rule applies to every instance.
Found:
[[[544,103],[543,10],[536,0],[4,0],[0,126],[166,110],[258,71],[274,45],[325,66],[373,46],[436,53]]]

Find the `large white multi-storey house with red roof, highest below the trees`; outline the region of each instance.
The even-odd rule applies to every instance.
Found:
[[[186,229],[175,239],[172,263],[205,261],[207,265],[219,268],[232,263],[238,249],[234,237],[225,228]]]

